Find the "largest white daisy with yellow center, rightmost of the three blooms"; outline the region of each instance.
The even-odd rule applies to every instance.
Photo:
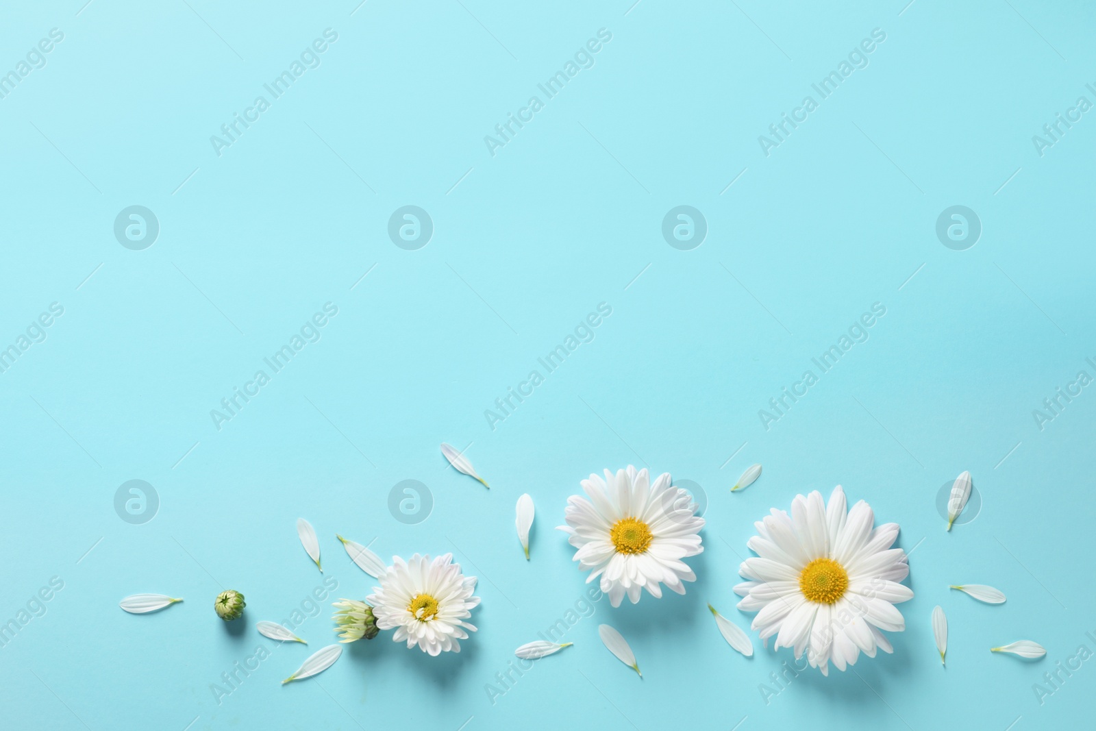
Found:
[[[749,579],[734,587],[743,612],[756,612],[751,627],[762,639],[776,635],[775,648],[791,648],[823,675],[830,661],[844,671],[860,652],[893,652],[880,630],[901,632],[905,619],[895,604],[913,598],[898,582],[910,574],[905,551],[891,548],[897,523],[872,529],[875,514],[863,500],[845,512],[838,484],[826,505],[817,490],[796,495],[791,517],[773,509],[754,524],[739,573]]]

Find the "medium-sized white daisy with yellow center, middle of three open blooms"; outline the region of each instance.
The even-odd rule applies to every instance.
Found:
[[[567,499],[567,525],[559,530],[579,549],[579,568],[592,570],[586,583],[601,575],[601,590],[615,607],[625,593],[635,604],[643,589],[661,597],[660,582],[684,594],[682,582],[696,581],[681,559],[704,550],[698,535],[704,518],[689,494],[670,482],[663,473],[651,484],[647,469],[637,472],[629,465],[616,475],[605,470],[604,480],[596,475],[583,480],[589,500]]]

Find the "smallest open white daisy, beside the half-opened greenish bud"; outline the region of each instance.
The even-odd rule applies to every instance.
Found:
[[[453,563],[453,553],[429,556],[415,553],[410,561],[396,556],[383,576],[380,586],[366,597],[380,629],[395,629],[392,640],[407,640],[408,648],[419,646],[423,652],[460,652],[457,640],[468,639],[476,627],[464,621],[471,617],[480,597],[472,596],[476,576],[460,573]]]

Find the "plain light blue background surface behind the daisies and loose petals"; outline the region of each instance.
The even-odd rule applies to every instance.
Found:
[[[1031,686],[1078,646],[1096,650],[1096,396],[1041,431],[1032,410],[1078,370],[1096,376],[1096,112],[1042,157],[1031,136],[1077,96],[1096,102],[1096,11],[630,2],[4,3],[0,69],[65,34],[0,100],[0,345],[65,308],[0,374],[0,620],[64,581],[0,649],[7,723],[1091,724],[1093,663],[1043,705]],[[209,136],[328,27],[339,39],[321,66],[218,157]],[[483,136],[602,27],[613,38],[594,67],[492,157]],[[868,67],[763,155],[757,136],[872,28],[887,38]],[[161,227],[144,251],[113,236],[135,204]],[[387,236],[407,204],[434,221],[419,251]],[[660,231],[683,204],[709,227],[693,251]],[[982,220],[967,251],[936,238],[951,205]],[[328,301],[339,315],[322,339],[217,431],[210,409]],[[483,411],[602,301],[613,313],[595,339],[490,429]],[[870,339],[765,431],[758,409],[874,302],[887,315]],[[471,443],[490,491],[446,466],[443,441]],[[763,477],[732,495],[753,462]],[[484,685],[514,648],[585,589],[552,530],[567,495],[628,464],[703,486],[699,581],[637,606],[603,599],[568,631],[573,648],[492,705]],[[946,534],[936,495],[963,469],[984,504]],[[130,479],[159,493],[144,525],[113,507]],[[388,512],[403,479],[433,494],[418,525]],[[790,654],[755,640],[743,659],[705,604],[747,627],[731,587],[753,522],[838,482],[916,547],[907,629],[893,655],[804,673],[766,704],[758,686]],[[522,492],[537,505],[529,562]],[[270,644],[254,621],[284,619],[321,583],[300,516],[339,589],[298,630],[309,648],[279,648],[218,705],[210,684]],[[453,551],[480,576],[480,631],[437,659],[386,633],[281,686],[334,637],[328,602],[372,586],[336,532],[385,557]],[[947,590],[962,582],[1008,602]],[[213,612],[222,586],[247,595],[242,633]],[[118,609],[139,592],[185,602]],[[642,681],[602,648],[600,623],[630,641]],[[989,652],[1017,639],[1047,658]]]

